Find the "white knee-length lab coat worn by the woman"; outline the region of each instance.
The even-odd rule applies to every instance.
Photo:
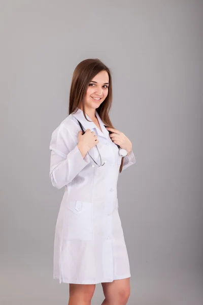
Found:
[[[54,237],[54,279],[59,283],[97,284],[130,277],[129,260],[118,213],[117,180],[121,157],[97,111],[101,131],[78,108],[51,136],[50,178],[57,189],[65,187]],[[101,167],[78,149],[83,128],[97,134]],[[87,115],[87,118],[89,116]],[[89,150],[100,164],[96,146]],[[133,152],[124,157],[123,170],[136,163]],[[128,203],[125,203],[128,204]]]

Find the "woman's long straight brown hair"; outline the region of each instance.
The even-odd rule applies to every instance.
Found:
[[[74,70],[73,78],[70,88],[70,98],[69,98],[69,114],[77,111],[80,103],[82,103],[82,109],[85,118],[86,114],[84,112],[84,103],[87,87],[92,78],[101,71],[107,71],[109,74],[109,90],[108,95],[103,103],[96,109],[101,120],[108,127],[114,128],[111,119],[109,117],[109,111],[112,105],[112,77],[110,69],[103,64],[98,58],[89,58],[80,62]],[[88,119],[87,119],[88,120]],[[88,120],[89,121],[89,120]],[[123,158],[121,159],[121,165],[119,172],[122,171]]]

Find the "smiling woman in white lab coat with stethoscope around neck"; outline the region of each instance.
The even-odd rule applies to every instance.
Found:
[[[70,284],[69,305],[90,304],[97,283],[103,286],[103,305],[126,304],[130,293],[117,179],[136,160],[130,140],[111,123],[111,104],[110,70],[99,59],[83,60],[73,74],[70,114],[50,143],[52,184],[65,187],[55,230],[54,279]],[[127,156],[119,155],[117,145]]]

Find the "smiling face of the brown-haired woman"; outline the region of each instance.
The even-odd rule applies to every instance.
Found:
[[[104,102],[109,91],[109,74],[101,71],[89,82],[85,95],[85,108],[98,108]]]

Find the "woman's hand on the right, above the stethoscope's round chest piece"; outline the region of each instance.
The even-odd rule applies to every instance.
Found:
[[[111,131],[112,134],[110,134],[110,138],[115,144],[118,144],[121,148],[127,150],[127,154],[130,153],[132,150],[132,143],[130,140],[122,133],[121,131],[111,128],[111,127],[106,127],[107,130]]]

